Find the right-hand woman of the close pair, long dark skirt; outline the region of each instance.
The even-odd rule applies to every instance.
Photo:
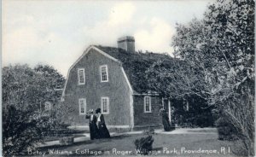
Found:
[[[102,114],[101,108],[97,108],[96,113],[98,114],[97,125],[99,128],[100,137],[110,138],[109,131],[105,124],[105,120],[104,120],[104,116]]]

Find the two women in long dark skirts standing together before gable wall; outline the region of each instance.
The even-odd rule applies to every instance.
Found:
[[[105,124],[105,119],[101,112],[101,108],[97,108],[96,113],[93,113],[93,109],[90,109],[86,114],[86,119],[89,119],[91,140],[99,138],[110,138],[110,134]]]

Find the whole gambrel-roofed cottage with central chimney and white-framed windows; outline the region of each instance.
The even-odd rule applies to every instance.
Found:
[[[162,125],[160,108],[168,103],[150,90],[144,73],[164,58],[136,52],[133,37],[119,38],[118,48],[90,45],[70,67],[62,93],[62,102],[73,108],[72,125],[88,125],[86,111],[96,108],[102,108],[109,128]]]

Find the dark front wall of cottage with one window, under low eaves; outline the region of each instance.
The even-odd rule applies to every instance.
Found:
[[[157,126],[161,124],[160,108],[162,102],[160,96],[151,97],[151,113],[144,113],[144,96],[133,96],[134,102],[134,126]]]

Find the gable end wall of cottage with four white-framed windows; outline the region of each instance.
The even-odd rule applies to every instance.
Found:
[[[100,66],[108,65],[108,82],[101,82]],[[85,84],[79,85],[78,68],[84,68]],[[79,98],[86,98],[86,111],[101,108],[101,97],[109,97],[109,113],[104,114],[107,125],[131,125],[131,91],[121,66],[90,49],[87,55],[70,70],[64,103],[69,111],[67,120],[72,125],[88,125],[85,115],[79,115]],[[73,111],[72,111],[73,110]]]

